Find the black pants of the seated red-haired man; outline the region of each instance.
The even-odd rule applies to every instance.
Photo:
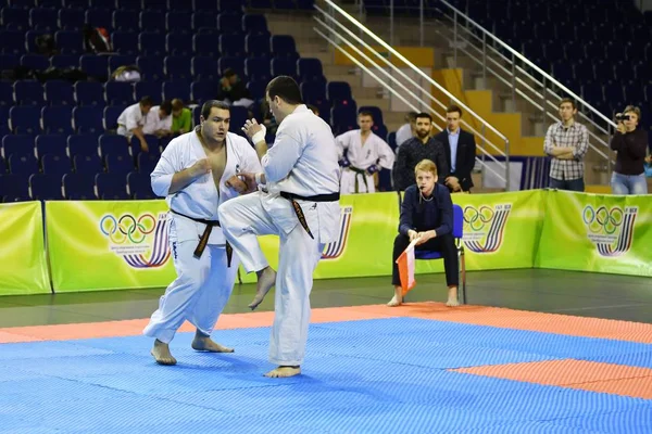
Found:
[[[401,285],[401,277],[399,276],[399,266],[397,265],[397,259],[409,245],[410,239],[408,235],[399,233],[394,239],[394,250],[391,261],[391,284],[396,286]],[[446,284],[449,286],[456,286],[460,283],[457,251],[455,248],[455,240],[453,239],[453,235],[449,233],[442,237],[435,237],[434,239],[417,245],[415,251],[440,252],[443,258],[443,269],[446,270]]]

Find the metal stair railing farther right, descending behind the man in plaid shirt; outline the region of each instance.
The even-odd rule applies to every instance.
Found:
[[[559,101],[563,98],[573,99],[578,106],[578,122],[588,127],[589,146],[602,162],[593,169],[611,175],[614,161],[610,156],[609,141],[616,129],[616,124],[612,119],[449,1],[436,0],[428,1],[429,4],[425,3],[421,0],[418,7],[399,9],[394,8],[393,1],[390,0],[391,39],[394,37],[393,22],[397,15],[411,15],[413,23],[418,17],[422,46],[424,35],[432,30],[447,42],[447,48],[452,50],[452,67],[457,67],[460,56],[463,54],[472,61],[484,84],[487,82],[488,77],[493,77],[510,89],[507,97],[511,98],[513,105],[516,105],[518,97],[534,108],[535,116],[530,120],[535,123],[557,122]],[[358,9],[361,12],[365,9],[364,0],[359,1]],[[434,39],[429,38],[428,41]]]

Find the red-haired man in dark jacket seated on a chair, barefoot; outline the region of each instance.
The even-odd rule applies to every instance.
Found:
[[[457,253],[453,230],[453,202],[446,186],[437,183],[437,166],[430,159],[422,159],[414,168],[416,184],[405,189],[401,204],[399,234],[394,239],[391,283],[394,296],[387,304],[399,306],[403,302],[401,278],[397,259],[414,240],[416,250],[441,252],[449,288],[447,306],[457,302]]]

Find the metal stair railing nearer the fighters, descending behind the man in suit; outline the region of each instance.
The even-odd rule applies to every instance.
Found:
[[[480,125],[480,131],[478,131],[465,119],[462,119],[461,122],[466,130],[473,132],[476,138],[479,139],[477,149],[481,153],[481,157],[478,158],[476,156],[477,163],[482,170],[491,171],[497,178],[504,182],[505,190],[510,190],[510,141],[503,133],[334,1],[318,0],[315,4],[315,10],[317,12],[314,16],[317,25],[313,28],[315,33],[328,41],[336,50],[340,51],[361,71],[368,74],[369,77],[376,80],[389,93],[401,100],[406,106],[415,112],[429,112],[435,118],[446,123],[446,117],[442,113],[444,113],[448,104],[436,99],[431,94],[429,86],[428,88],[425,88],[403,71],[412,69],[417,76],[425,79],[428,85],[436,87],[448,97],[450,101],[464,110],[468,116]],[[360,36],[358,36],[356,33]],[[367,43],[364,40],[365,36],[372,40],[369,43],[380,46],[387,50],[387,55],[384,55],[378,50],[374,49],[372,44]],[[380,61],[380,64],[372,59],[372,56],[367,55],[363,50],[366,50],[367,53]],[[398,59],[400,63],[404,65],[403,68],[396,66],[390,60],[392,58]],[[366,66],[365,63],[371,66]],[[419,93],[425,98],[419,97]],[[438,108],[435,108],[432,106],[434,104]],[[487,131],[491,131],[504,142],[504,152],[487,138]],[[494,154],[504,158],[504,161],[498,159]],[[492,164],[488,164],[487,159]]]

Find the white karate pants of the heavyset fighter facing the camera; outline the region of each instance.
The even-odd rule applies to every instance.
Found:
[[[177,242],[173,221],[168,238],[177,278],[161,296],[159,309],[143,330],[145,335],[166,344],[185,320],[211,335],[233,292],[239,265],[234,252],[231,266],[227,267],[225,245],[208,244],[201,257],[196,258],[193,252],[199,240]]]

